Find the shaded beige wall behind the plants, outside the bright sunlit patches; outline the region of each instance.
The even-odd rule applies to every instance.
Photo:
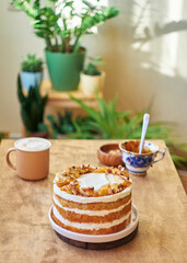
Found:
[[[90,55],[102,55],[106,61],[105,98],[119,94],[119,108],[142,110],[152,100],[152,121],[174,123],[180,139],[187,140],[187,32],[179,34],[176,72],[163,73],[153,61],[161,53],[163,39],[151,43],[147,52],[133,49],[126,27],[131,1],[110,1],[122,9],[120,15],[100,27],[97,35],[86,36],[83,44]],[[163,11],[162,11],[163,12]],[[183,16],[187,14],[183,10]],[[167,37],[167,36],[164,36]],[[0,10],[0,130],[21,130],[16,98],[16,75],[27,53],[44,57],[44,42],[33,34],[26,15],[8,10],[1,0]],[[160,50],[160,52],[159,52]],[[160,58],[157,57],[157,60]],[[143,67],[143,65],[148,65]],[[45,75],[47,78],[47,73]]]

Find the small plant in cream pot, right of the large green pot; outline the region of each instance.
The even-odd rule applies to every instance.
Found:
[[[84,94],[93,95],[96,90],[103,90],[105,72],[101,71],[97,65],[104,65],[104,61],[102,57],[89,57],[89,60],[86,68],[81,72],[81,89]]]

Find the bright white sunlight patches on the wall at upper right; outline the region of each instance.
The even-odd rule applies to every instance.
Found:
[[[164,4],[164,12],[160,10],[160,5]],[[177,22],[183,20],[183,7],[184,0],[167,0],[165,2],[159,0],[152,2],[150,0],[140,0],[133,5],[132,23],[135,25],[135,37],[145,37],[145,33],[153,34],[153,38],[144,43],[136,42],[132,47],[140,49],[144,53],[150,53],[150,61],[142,61],[143,68],[154,68],[159,72],[175,77],[177,73],[177,59],[179,48],[179,32],[173,32],[170,34],[155,37],[155,25],[159,21],[159,25],[165,25],[170,22]],[[157,14],[157,15],[156,15]],[[156,15],[156,20],[154,19]],[[149,32],[145,32],[145,27],[149,27]]]

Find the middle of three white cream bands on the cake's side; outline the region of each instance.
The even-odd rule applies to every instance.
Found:
[[[126,206],[128,206],[130,204],[131,201],[129,201],[128,203],[126,203],[125,205],[119,206],[118,208],[115,209],[110,209],[110,210],[81,210],[78,208],[69,208],[69,207],[65,207],[60,204],[60,202],[55,197],[54,195],[54,202],[57,206],[59,206],[60,208],[68,210],[68,211],[74,211],[75,214],[81,214],[81,215],[89,215],[89,216],[106,216],[110,213],[116,213],[116,211],[120,211],[122,210]]]

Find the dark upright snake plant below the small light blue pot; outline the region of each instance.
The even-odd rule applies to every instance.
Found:
[[[48,96],[40,96],[39,88],[31,87],[27,95],[23,93],[20,76],[17,77],[17,98],[21,104],[21,115],[27,133],[38,132],[43,123],[44,111]]]

